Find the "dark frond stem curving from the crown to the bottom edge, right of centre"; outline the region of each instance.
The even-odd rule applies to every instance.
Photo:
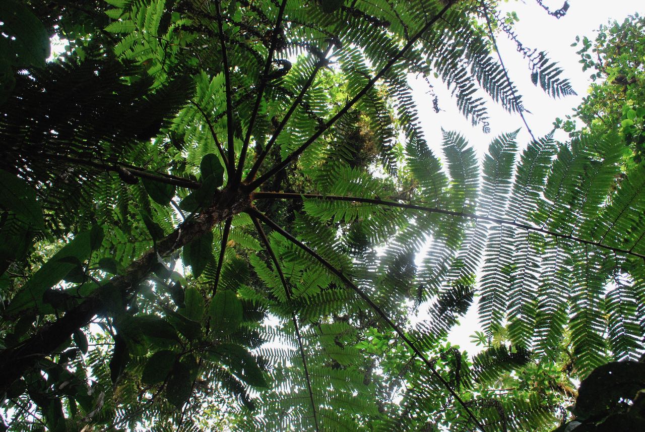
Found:
[[[459,404],[464,408],[466,413],[468,413],[468,417],[470,417],[473,420],[473,422],[475,422],[477,427],[479,427],[479,429],[482,432],[485,432],[484,428],[481,425],[481,423],[479,422],[479,420],[477,420],[477,417],[475,417],[475,415],[473,415],[473,413],[470,411],[470,408],[468,408],[468,406],[461,399],[461,397],[459,397],[459,395],[457,395],[457,393],[455,393],[455,391],[452,389],[452,387],[450,387],[450,384],[448,384],[448,382],[439,374],[439,372],[437,372],[437,369],[435,369],[433,362],[428,360],[428,358],[419,350],[419,348],[417,348],[415,346],[415,344],[413,344],[412,340],[408,339],[408,337],[405,335],[405,332],[403,331],[403,329],[401,329],[397,324],[395,324],[390,319],[390,317],[388,317],[388,315],[386,315],[386,313],[381,308],[379,308],[379,306],[377,306],[377,304],[375,304],[372,301],[372,299],[370,299],[370,297],[368,297],[368,295],[366,295],[366,293],[364,293],[364,291],[361,290],[361,288],[359,288],[356,284],[354,284],[354,282],[352,282],[352,280],[350,280],[348,277],[346,277],[342,273],[342,271],[338,270],[332,264],[330,264],[330,262],[328,262],[326,259],[321,257],[321,255],[319,255],[316,251],[312,250],[311,248],[306,246],[306,244],[304,244],[303,242],[301,242],[298,239],[296,239],[295,237],[293,237],[293,235],[291,235],[287,231],[283,230],[283,228],[281,228],[275,222],[273,222],[271,219],[269,219],[268,217],[263,215],[263,213],[260,213],[259,211],[255,210],[255,208],[250,208],[247,211],[248,211],[248,213],[250,215],[257,217],[258,219],[261,219],[265,224],[267,224],[268,226],[273,228],[273,230],[278,231],[285,239],[287,239],[288,241],[292,242],[293,244],[295,244],[296,246],[298,246],[302,250],[306,251],[306,253],[308,253],[309,255],[312,255],[312,257],[315,258],[321,264],[323,264],[323,266],[328,271],[330,271],[330,273],[332,273],[333,275],[335,275],[336,277],[341,279],[342,282],[346,286],[348,286],[349,288],[352,288],[352,290],[355,293],[357,293],[359,295],[359,297],[361,297],[361,299],[363,299],[364,302],[366,302],[370,306],[370,308],[372,308],[373,311],[375,311],[375,313],[377,315],[379,315],[379,317],[381,317],[381,319],[384,320],[388,324],[388,326],[390,326],[390,328],[392,328],[397,333],[397,335],[399,335],[399,337],[403,340],[403,342],[406,343],[406,345],[412,350],[412,352],[422,362],[424,362],[426,367],[428,369],[430,369],[430,371],[432,372],[432,375],[435,378],[437,378],[437,380],[439,380],[439,382],[441,382],[441,384],[450,392],[452,397],[454,397],[455,400],[457,400],[457,402],[459,402]]]

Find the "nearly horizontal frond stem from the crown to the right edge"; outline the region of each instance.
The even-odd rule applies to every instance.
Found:
[[[350,202],[366,202],[368,204],[376,204],[381,206],[390,206],[397,208],[406,208],[409,210],[421,210],[428,213],[441,213],[442,215],[457,216],[457,217],[466,217],[468,219],[474,219],[476,221],[488,221],[500,225],[510,225],[515,226],[516,228],[521,228],[522,230],[535,231],[538,233],[550,235],[557,239],[568,239],[571,241],[579,242],[582,244],[588,244],[590,246],[596,246],[597,248],[610,250],[616,253],[624,253],[625,255],[633,255],[634,257],[639,257],[640,259],[645,260],[645,255],[642,253],[636,253],[631,250],[626,250],[622,248],[614,248],[613,246],[607,246],[600,242],[595,242],[591,240],[581,239],[580,237],[573,237],[573,235],[561,234],[555,231],[545,230],[544,228],[539,228],[537,226],[531,226],[526,224],[520,224],[513,221],[507,221],[505,219],[497,219],[495,217],[475,215],[475,213],[466,213],[464,211],[451,211],[443,210],[441,208],[433,208],[426,206],[419,206],[417,204],[404,204],[402,202],[395,201],[384,201],[382,199],[372,199],[372,198],[360,198],[360,197],[343,197],[339,195],[317,195],[315,193],[288,193],[288,192],[255,192],[252,195],[252,199],[303,199],[303,198],[312,198],[312,199],[321,199],[328,201],[350,201]]]

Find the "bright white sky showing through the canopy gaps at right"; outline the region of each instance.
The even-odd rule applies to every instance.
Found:
[[[549,6],[551,10],[557,10],[563,3],[564,0],[544,0],[544,5]],[[536,138],[551,132],[555,118],[570,114],[571,109],[578,106],[587,93],[591,71],[582,72],[582,65],[578,63],[580,57],[575,54],[579,48],[570,46],[575,42],[575,37],[580,35],[582,38],[586,35],[593,40],[595,30],[609,19],[622,22],[627,15],[635,12],[639,12],[640,15],[645,13],[645,2],[639,0],[570,0],[569,3],[570,8],[561,19],[548,15],[535,0],[511,0],[504,5],[506,10],[517,12],[520,21],[517,23],[516,33],[524,46],[548,52],[550,59],[557,61],[564,69],[561,76],[570,79],[575,92],[578,93],[577,96],[564,99],[552,99],[546,95],[541,88],[531,83],[528,62],[516,51],[515,44],[504,34],[497,35],[497,44],[510,78],[519,89],[524,106],[531,112],[526,113],[525,117]],[[486,152],[491,139],[500,133],[522,128],[519,135],[520,145],[526,146],[530,141],[519,115],[510,115],[494,103],[488,106],[492,132],[486,134],[482,132],[481,126],[471,126],[470,120],[464,119],[457,110],[455,100],[445,86],[440,81],[433,84],[434,91],[439,96],[439,107],[442,109],[440,113],[435,113],[432,109],[432,97],[427,93],[426,82],[418,79],[413,81],[412,85],[426,139],[439,157],[441,128],[459,131],[480,157]],[[461,322],[461,326],[450,333],[450,342],[458,344],[471,354],[477,353],[481,348],[470,342],[470,335],[480,329],[476,308],[471,308]]]

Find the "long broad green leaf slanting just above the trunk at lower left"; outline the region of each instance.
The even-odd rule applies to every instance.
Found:
[[[12,299],[5,313],[13,315],[28,308],[41,308],[45,291],[60,282],[68,273],[77,267],[72,262],[64,260],[74,257],[79,261],[90,257],[90,231],[77,234],[72,241],[66,244],[52,258],[50,258],[38,271],[30,277],[23,288]]]

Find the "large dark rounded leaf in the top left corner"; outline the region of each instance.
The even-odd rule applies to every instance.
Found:
[[[23,3],[0,2],[0,32],[8,35],[0,48],[0,58],[18,67],[44,66],[50,55],[49,36],[45,26]],[[5,39],[3,37],[3,39]]]

